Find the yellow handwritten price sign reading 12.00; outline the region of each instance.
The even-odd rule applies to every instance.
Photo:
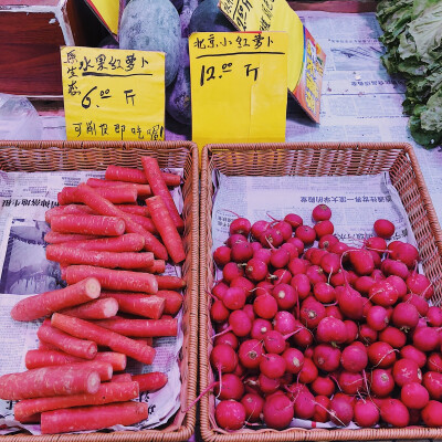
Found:
[[[189,36],[192,139],[282,143],[287,106],[284,32],[197,32]]]

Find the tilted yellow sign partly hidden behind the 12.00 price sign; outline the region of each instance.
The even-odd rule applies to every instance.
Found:
[[[240,31],[287,32],[288,91],[318,123],[326,55],[287,1],[219,0],[219,8]]]

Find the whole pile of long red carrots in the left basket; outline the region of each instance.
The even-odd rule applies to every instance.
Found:
[[[161,275],[167,261],[186,259],[168,189],[181,179],[155,158],[141,162],[144,170],[109,166],[104,180],[62,189],[46,212],[46,257],[60,263],[67,286],[12,308],[15,320],[44,322],[28,371],[0,377],[0,399],[18,400],[14,418],[40,422],[43,434],[146,420],[147,404],[131,400],[167,383],[162,372],[118,373],[127,357],[152,364],[152,338],[177,336],[186,286]]]

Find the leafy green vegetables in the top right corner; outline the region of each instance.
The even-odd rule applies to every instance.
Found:
[[[442,2],[440,0],[381,0],[377,17],[383,30],[381,57],[390,74],[407,81],[403,110],[410,130],[427,148],[442,141]]]

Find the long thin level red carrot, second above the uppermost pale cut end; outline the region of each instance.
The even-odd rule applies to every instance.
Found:
[[[97,252],[57,244],[46,246],[46,259],[64,264],[95,265],[106,269],[145,269],[154,264],[151,252]]]

